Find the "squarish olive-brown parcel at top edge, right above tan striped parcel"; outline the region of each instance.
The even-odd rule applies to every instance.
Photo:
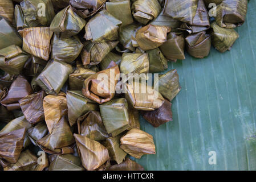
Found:
[[[50,26],[55,16],[51,0],[23,0],[20,5],[29,27]]]

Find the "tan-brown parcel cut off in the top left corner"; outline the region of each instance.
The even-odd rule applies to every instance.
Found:
[[[1,0],[0,1],[0,17],[13,21],[14,15],[14,5],[11,0]]]

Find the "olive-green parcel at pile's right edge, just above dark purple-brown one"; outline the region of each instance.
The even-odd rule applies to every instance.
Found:
[[[159,80],[155,80],[154,85],[158,86],[159,92],[170,102],[181,90],[176,69],[160,75]]]

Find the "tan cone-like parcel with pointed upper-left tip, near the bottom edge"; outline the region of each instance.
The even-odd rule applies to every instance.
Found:
[[[88,171],[95,170],[107,162],[108,150],[102,144],[78,134],[74,134],[74,137],[84,168]]]

